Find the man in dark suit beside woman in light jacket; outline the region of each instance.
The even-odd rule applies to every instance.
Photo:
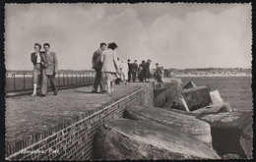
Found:
[[[92,60],[93,69],[96,70],[96,80],[92,89],[93,93],[96,93],[98,84],[100,86],[100,92],[105,92],[105,83],[102,79],[102,74],[101,74],[102,62],[100,61],[102,57],[102,52],[103,50],[105,50],[105,47],[106,47],[105,43],[100,43],[99,49],[96,50],[93,56],[93,60]]]

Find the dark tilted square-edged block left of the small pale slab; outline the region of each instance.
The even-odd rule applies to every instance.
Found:
[[[190,111],[208,106],[212,103],[210,91],[207,86],[183,89],[182,94]]]

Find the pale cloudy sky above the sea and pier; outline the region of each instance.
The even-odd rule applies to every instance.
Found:
[[[91,70],[100,42],[117,57],[164,68],[251,68],[251,4],[6,4],[7,70],[32,70],[50,43],[60,70]],[[43,49],[42,49],[43,50]]]

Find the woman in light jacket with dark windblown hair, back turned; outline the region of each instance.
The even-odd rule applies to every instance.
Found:
[[[117,74],[120,74],[119,63],[116,57],[117,47],[115,42],[109,43],[101,57],[101,62],[103,63],[101,72],[107,83],[107,93],[113,93],[113,81],[117,79]]]

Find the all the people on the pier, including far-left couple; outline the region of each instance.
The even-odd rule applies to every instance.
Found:
[[[134,63],[130,63],[130,59],[127,62],[120,60],[116,55],[117,47],[115,42],[107,45],[102,42],[99,45],[99,49],[94,53],[92,63],[93,69],[96,70],[96,79],[92,92],[97,92],[99,85],[100,92],[113,93],[113,82],[117,80],[126,84],[127,81],[135,81],[136,76],[138,76],[139,81],[149,81],[151,78],[151,60],[142,61],[140,65],[137,64],[137,60]],[[33,48],[34,52],[31,55],[33,92],[31,96],[37,95],[36,88],[38,84],[41,85],[39,95],[46,96],[47,79],[50,81],[54,95],[57,95],[55,75],[58,72],[58,60],[55,52],[49,51],[49,43],[43,44],[44,51],[40,51],[41,45],[39,43],[35,43]],[[157,64],[155,77],[160,82],[160,87],[162,86],[163,75],[163,68]]]

